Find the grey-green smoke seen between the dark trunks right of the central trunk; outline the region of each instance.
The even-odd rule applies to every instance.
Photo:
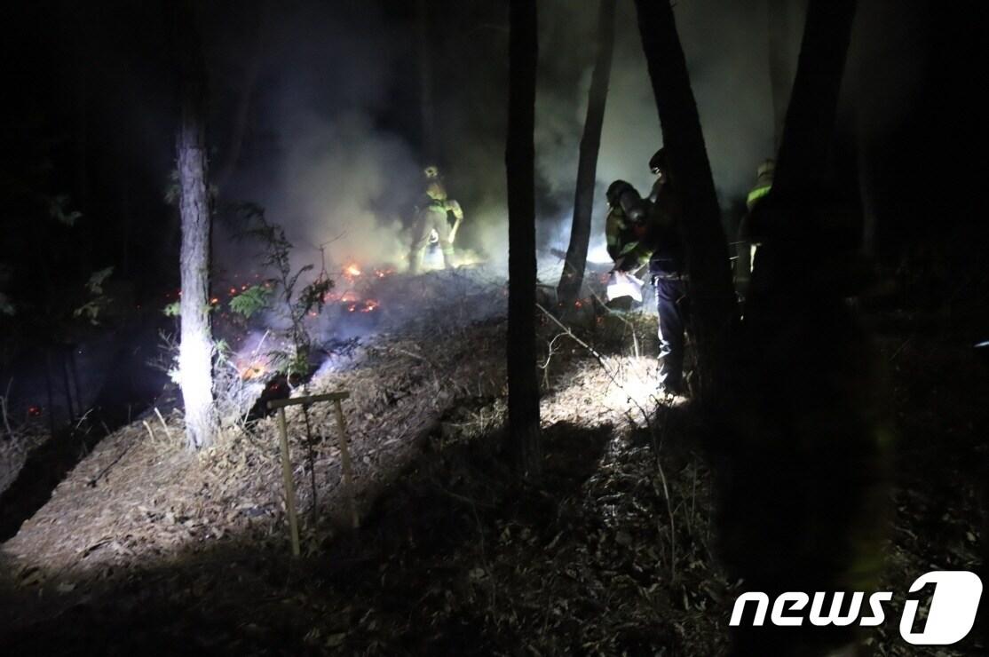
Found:
[[[581,11],[574,3],[543,7],[540,19],[547,27],[541,35],[539,63],[549,72],[541,76],[537,90],[536,150],[538,172],[554,203],[542,217],[540,242],[566,249],[596,45],[596,11],[589,4],[581,5]],[[764,2],[755,1],[693,0],[675,8],[715,186],[726,209],[744,197],[756,167],[773,154],[765,11]],[[619,3],[615,28],[588,255],[596,261],[607,259],[604,190],[622,179],[643,195],[648,193],[653,183],[649,158],[663,143],[633,3]],[[713,40],[717,47],[711,47]],[[583,56],[575,57],[574,52]]]

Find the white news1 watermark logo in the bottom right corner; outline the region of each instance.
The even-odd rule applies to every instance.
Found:
[[[919,594],[924,590],[930,592],[927,618],[918,619],[921,601],[908,598],[903,603],[903,615],[900,616],[900,636],[914,645],[950,645],[965,638],[975,624],[975,614],[982,597],[979,576],[967,570],[931,571],[918,577],[910,586],[910,594]],[[847,597],[849,603],[845,602]],[[750,591],[736,599],[728,624],[733,627],[761,626],[765,624],[768,613],[769,623],[780,627],[800,626],[805,621],[821,627],[842,627],[854,623],[874,627],[886,622],[886,606],[892,600],[893,593],[888,591],[870,594],[867,601],[861,592],[850,595],[788,591],[770,601],[767,594]],[[825,611],[829,601],[831,604]]]

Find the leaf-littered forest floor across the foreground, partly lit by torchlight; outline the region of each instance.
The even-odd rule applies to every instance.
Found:
[[[503,288],[474,294],[457,308],[503,304]],[[500,448],[500,313],[435,306],[324,368],[311,392],[351,392],[362,521],[349,526],[331,410],[310,409],[310,441],[295,407],[298,559],[273,419],[199,453],[178,413],[115,432],[0,550],[5,654],[723,652],[738,586],[715,556],[698,419],[654,395],[655,319],[590,317],[576,336],[599,357],[542,318],[538,487],[513,481]],[[981,533],[983,374],[914,326],[879,331],[900,445],[891,591],[975,569]],[[963,654],[888,625],[868,639],[877,654]]]

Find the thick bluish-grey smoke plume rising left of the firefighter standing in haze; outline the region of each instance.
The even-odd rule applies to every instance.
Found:
[[[332,277],[352,262],[404,264],[420,166],[401,132],[379,122],[407,44],[373,8],[290,8],[266,26],[253,150],[229,195],[285,229],[297,267],[318,270],[324,258]],[[250,248],[227,243],[220,256],[235,268]]]

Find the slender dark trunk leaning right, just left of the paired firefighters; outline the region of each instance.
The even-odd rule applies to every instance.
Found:
[[[587,244],[590,241],[590,219],[594,209],[594,183],[597,180],[597,151],[601,145],[604,106],[608,98],[608,78],[611,75],[611,55],[615,42],[616,0],[601,0],[598,9],[597,56],[587,93],[587,118],[581,155],[577,165],[577,191],[574,193],[574,225],[570,231],[570,246],[563,274],[557,286],[560,306],[569,308],[577,301],[584,283]]]

